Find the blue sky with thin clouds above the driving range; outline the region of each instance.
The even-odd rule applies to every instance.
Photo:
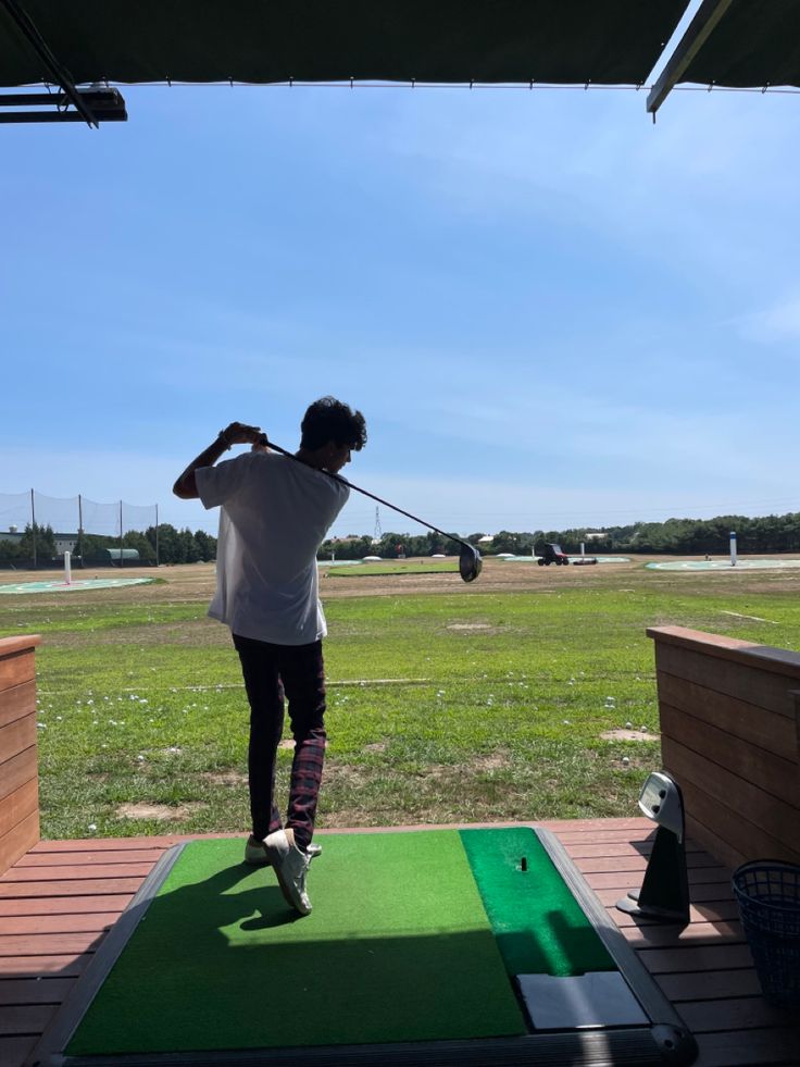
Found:
[[[0,493],[213,531],[186,462],[333,393],[346,474],[462,534],[800,510],[797,96],[124,96],[2,128]]]

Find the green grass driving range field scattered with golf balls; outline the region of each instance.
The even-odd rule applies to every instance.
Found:
[[[646,626],[800,648],[795,578],[503,566],[470,586],[423,576],[430,592],[323,581],[321,827],[636,815],[660,766]],[[43,836],[248,827],[247,705],[227,632],[205,617],[211,570],[159,573],[0,603],[0,635],[43,637]],[[604,736],[628,723],[637,740]],[[290,759],[282,748],[282,796]]]

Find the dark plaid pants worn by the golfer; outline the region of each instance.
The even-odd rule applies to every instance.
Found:
[[[284,694],[295,737],[286,826],[307,848],[314,832],[316,802],[325,759],[325,668],[322,642],[272,645],[234,634],[250,703],[250,814],[259,841],[279,830],[275,806],[275,765],[284,729]]]

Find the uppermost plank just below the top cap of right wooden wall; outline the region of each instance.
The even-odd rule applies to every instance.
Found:
[[[726,662],[668,645],[659,645],[655,649],[657,675],[662,671],[674,674],[793,721],[795,709],[789,692],[797,688],[797,680],[775,673],[766,663],[764,668],[761,669],[755,661],[751,666]]]

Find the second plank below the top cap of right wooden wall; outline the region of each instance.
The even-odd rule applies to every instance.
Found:
[[[698,685],[683,678],[658,675],[659,705],[662,703],[697,719],[717,725],[751,745],[766,748],[778,756],[797,749],[796,730],[784,715],[758,708],[736,696],[717,693],[708,685]],[[662,725],[663,730],[663,725]]]

